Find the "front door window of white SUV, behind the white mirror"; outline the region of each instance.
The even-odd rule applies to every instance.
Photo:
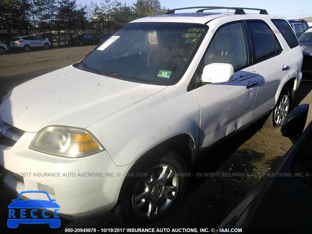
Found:
[[[216,31],[205,55],[205,65],[215,62],[230,63],[234,70],[248,64],[247,43],[241,22],[222,26]]]

